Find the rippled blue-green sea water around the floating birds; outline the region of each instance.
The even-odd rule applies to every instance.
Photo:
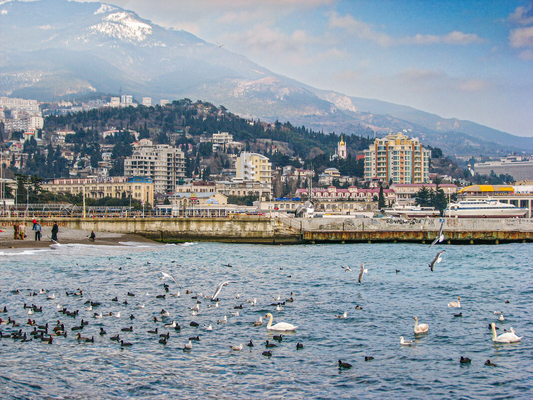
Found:
[[[429,262],[440,250],[446,251],[432,273]],[[0,318],[9,316],[20,327],[0,325],[2,333],[29,333],[28,318],[50,327],[59,319],[67,338],[54,337],[52,344],[0,339],[0,398],[530,399],[532,254],[531,244],[124,242],[3,249],[0,308],[7,313]],[[361,263],[368,272],[359,283]],[[181,289],[160,271],[172,274]],[[222,287],[218,307],[208,307],[214,302],[205,296],[224,281],[234,282]],[[39,294],[41,289],[46,293]],[[83,297],[66,294],[79,289]],[[180,297],[170,295],[177,291]],[[55,299],[47,300],[51,294]],[[448,307],[458,296],[462,308]],[[281,311],[272,305],[291,297]],[[247,301],[253,299],[255,306]],[[86,310],[88,300],[101,305]],[[190,308],[197,301],[199,313],[193,316]],[[42,312],[28,315],[24,303]],[[58,306],[79,314],[68,317]],[[161,318],[162,309],[171,316]],[[239,316],[230,314],[236,311]],[[336,318],[344,311],[347,318]],[[120,317],[96,319],[95,312]],[[280,332],[266,329],[266,313],[273,314],[274,324],[297,325],[296,331],[274,340]],[[224,316],[228,322],[217,323]],[[414,316],[429,325],[427,333],[414,334]],[[259,317],[263,325],[254,326]],[[82,318],[88,325],[71,331]],[[164,327],[173,320],[180,331]],[[193,321],[199,326],[190,326]],[[513,327],[522,341],[492,342],[492,322],[498,334]],[[132,332],[121,331],[130,326]],[[99,334],[101,327],[107,334]],[[147,332],[156,327],[169,332],[166,345]],[[94,337],[94,343],[78,342],[77,332]],[[111,341],[117,333],[132,346]],[[400,336],[412,345],[401,346]],[[250,340],[253,347],[246,346]],[[266,340],[276,345],[270,357],[262,354]],[[243,350],[230,348],[241,343]],[[471,363],[459,363],[461,356]],[[496,366],[484,365],[487,359]],[[338,360],[351,368],[340,369]]]

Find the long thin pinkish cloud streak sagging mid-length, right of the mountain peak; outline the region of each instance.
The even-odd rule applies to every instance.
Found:
[[[381,46],[387,47],[391,45],[400,44],[471,44],[483,43],[484,39],[476,34],[466,34],[458,30],[454,30],[446,35],[422,35],[406,36],[400,39],[395,39],[383,32],[376,30],[372,25],[361,20],[354,19],[351,15],[344,16],[332,11],[328,13],[328,27],[346,30],[352,35],[356,35],[361,39],[366,39],[375,42]]]

